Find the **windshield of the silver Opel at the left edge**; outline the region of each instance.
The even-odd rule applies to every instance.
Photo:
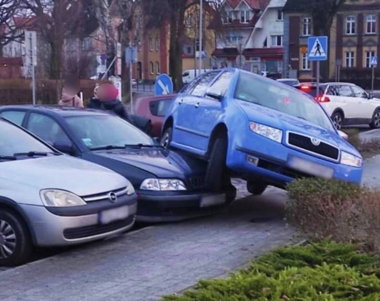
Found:
[[[0,120],[0,156],[13,156],[17,153],[26,152],[51,153],[52,149],[21,128],[5,120]]]

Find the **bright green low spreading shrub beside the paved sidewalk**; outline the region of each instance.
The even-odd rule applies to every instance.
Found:
[[[227,279],[164,301],[380,300],[380,257],[330,241],[281,247]]]

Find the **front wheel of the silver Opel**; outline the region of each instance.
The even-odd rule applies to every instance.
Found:
[[[0,266],[24,263],[32,251],[32,240],[24,221],[11,211],[0,210]]]

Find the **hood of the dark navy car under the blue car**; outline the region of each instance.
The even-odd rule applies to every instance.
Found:
[[[92,154],[135,166],[160,178],[174,177],[184,179],[187,176],[205,173],[205,166],[200,160],[190,158],[180,152],[165,150],[161,147],[103,150],[92,152]]]

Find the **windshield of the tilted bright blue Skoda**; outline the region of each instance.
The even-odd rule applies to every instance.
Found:
[[[276,81],[241,72],[234,98],[249,101],[334,130],[321,106],[309,96]]]

